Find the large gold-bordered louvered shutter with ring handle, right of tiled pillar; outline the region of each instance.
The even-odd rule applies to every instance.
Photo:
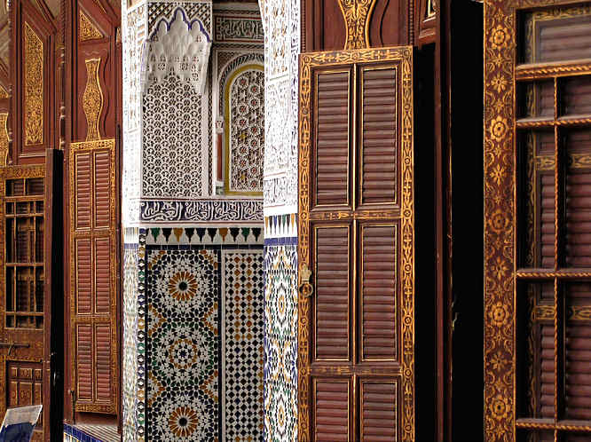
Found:
[[[414,440],[412,49],[301,73],[299,438]]]

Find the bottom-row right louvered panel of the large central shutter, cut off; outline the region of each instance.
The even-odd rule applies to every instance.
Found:
[[[361,440],[397,440],[397,383],[361,381]]]

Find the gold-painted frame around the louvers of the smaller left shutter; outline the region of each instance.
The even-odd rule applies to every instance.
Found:
[[[109,165],[110,165],[110,185],[111,185],[111,194],[109,195],[109,210],[110,210],[110,222],[109,227],[104,228],[95,228],[95,212],[91,212],[91,227],[86,229],[76,230],[75,228],[75,207],[77,205],[76,201],[76,193],[75,193],[75,156],[76,154],[80,153],[94,153],[96,151],[105,151],[109,152]],[[91,160],[91,164],[94,162],[94,159]],[[94,167],[91,167],[91,193],[94,193],[95,185],[94,185]],[[119,372],[118,372],[118,357],[119,354],[119,344],[117,341],[117,332],[116,332],[116,324],[117,324],[117,296],[116,296],[116,274],[117,274],[117,238],[116,238],[116,217],[115,217],[115,194],[116,194],[116,181],[115,181],[115,140],[114,139],[99,139],[94,141],[82,141],[78,143],[72,143],[70,145],[70,152],[69,152],[69,216],[70,216],[70,354],[71,354],[71,379],[72,383],[76,383],[76,395],[78,391],[77,386],[77,377],[76,377],[76,343],[77,343],[77,325],[78,324],[85,324],[91,325],[92,327],[92,334],[94,336],[95,333],[95,325],[98,323],[106,324],[109,323],[111,327],[111,403],[110,404],[99,404],[99,403],[89,403],[88,401],[80,401],[82,403],[78,403],[78,399],[76,399],[75,404],[75,411],[77,412],[87,412],[87,413],[102,413],[102,414],[117,414],[118,413],[118,406],[119,401],[117,400],[117,395],[119,392]],[[91,198],[94,198],[94,194],[91,194]],[[76,314],[76,305],[75,305],[75,288],[76,286],[76,269],[75,269],[75,243],[76,240],[79,238],[81,239],[91,239],[94,238],[108,238],[110,241],[110,258],[111,258],[111,313],[109,322],[102,319],[95,319],[95,318],[88,318],[84,319]],[[95,263],[92,264],[93,268]],[[92,290],[95,290],[93,287]],[[91,316],[91,315],[87,315]],[[93,358],[96,354],[96,348],[92,348],[92,355]],[[96,399],[96,384],[94,385],[94,390],[92,391],[94,402]],[[76,396],[77,398],[77,396]]]

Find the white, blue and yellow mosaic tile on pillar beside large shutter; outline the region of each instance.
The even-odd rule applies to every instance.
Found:
[[[264,247],[264,432],[297,438],[297,246]]]

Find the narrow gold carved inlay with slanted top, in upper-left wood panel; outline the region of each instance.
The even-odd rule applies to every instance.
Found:
[[[25,145],[43,143],[43,41],[25,22]]]

